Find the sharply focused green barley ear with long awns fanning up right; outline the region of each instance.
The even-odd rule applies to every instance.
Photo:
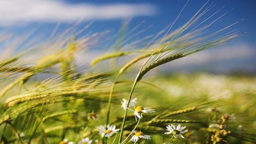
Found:
[[[204,4],[204,6],[206,4]],[[188,56],[196,52],[200,52],[216,46],[228,44],[230,42],[233,42],[239,39],[239,37],[244,35],[244,33],[241,33],[238,29],[235,29],[235,30],[231,29],[225,34],[221,34],[221,32],[223,32],[224,30],[227,30],[228,28],[232,27],[236,23],[242,21],[240,20],[216,32],[213,32],[212,34],[209,34],[203,37],[198,37],[205,30],[207,30],[207,28],[209,29],[209,27],[215,21],[219,20],[220,18],[222,18],[224,15],[227,14],[227,13],[222,14],[220,17],[215,19],[210,24],[206,25],[205,27],[202,27],[201,26],[202,24],[204,24],[209,18],[216,15],[221,10],[221,9],[218,10],[217,12],[210,15],[209,18],[207,18],[206,20],[203,20],[200,22],[198,19],[201,18],[204,14],[206,14],[209,11],[209,9],[213,7],[213,6],[209,6],[208,8],[203,10],[204,6],[198,12],[196,12],[196,14],[190,20],[188,20],[187,23],[185,23],[181,28],[177,29],[175,31],[176,33],[174,34],[174,36],[170,38],[169,41],[162,44],[160,47],[158,47],[155,50],[154,53],[151,54],[151,56],[142,65],[140,69],[140,73],[137,76],[137,82],[140,81],[141,78],[149,70],[156,68],[157,66],[170,62],[172,60],[179,59],[181,57]],[[194,24],[195,22],[199,22],[199,24],[195,25]]]

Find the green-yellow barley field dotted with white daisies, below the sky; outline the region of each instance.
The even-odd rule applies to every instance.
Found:
[[[254,75],[158,69],[245,36],[236,27],[241,20],[208,33],[225,17],[211,8],[204,5],[173,29],[177,16],[167,29],[137,40],[140,31],[124,33],[125,25],[116,37],[77,37],[90,24],[47,40],[13,40],[0,54],[0,143],[256,143]],[[84,60],[109,41],[109,51]]]

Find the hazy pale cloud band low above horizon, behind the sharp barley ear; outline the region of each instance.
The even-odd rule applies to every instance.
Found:
[[[90,51],[88,53],[80,54],[76,57],[77,64],[86,63],[85,69],[89,68],[89,63],[94,58],[104,54],[103,51]],[[174,60],[169,62],[168,64],[164,64],[159,68],[154,68],[151,70],[152,72],[159,72],[164,70],[177,70],[177,69],[186,69],[188,67],[195,67],[195,66],[205,66],[207,64],[212,64],[212,62],[216,62],[215,66],[212,66],[211,70],[216,69],[216,67],[220,66],[221,63],[225,62],[224,64],[227,67],[224,67],[222,70],[230,70],[232,68],[240,67],[237,66],[234,60],[243,61],[243,60],[250,60],[254,58],[256,54],[256,50],[253,45],[240,43],[240,44],[229,44],[219,48],[213,48],[211,50],[205,50],[202,52],[198,52],[184,58]],[[120,60],[120,59],[119,59]],[[138,68],[142,65],[144,60],[138,62]],[[251,64],[243,62],[242,65],[244,67],[249,67]],[[221,65],[223,66],[223,65]]]

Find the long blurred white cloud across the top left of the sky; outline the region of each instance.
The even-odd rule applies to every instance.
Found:
[[[68,4],[60,0],[1,0],[0,25],[31,21],[108,20],[156,13],[152,4]]]

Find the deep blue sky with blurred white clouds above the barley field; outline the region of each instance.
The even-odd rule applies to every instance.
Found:
[[[206,2],[206,0],[190,0],[174,28],[178,28],[189,20]],[[218,20],[209,32],[244,19],[236,25],[236,28],[245,29],[244,32],[248,33],[247,36],[225,47],[204,52],[203,54],[207,57],[201,54],[191,56],[183,62],[181,60],[177,64],[178,67],[182,65],[188,68],[188,66],[200,64],[203,69],[215,66],[215,69],[219,68],[220,70],[230,67],[229,70],[254,71],[256,67],[254,64],[256,63],[254,56],[256,54],[256,1],[210,0],[208,4],[212,2],[216,4],[213,11],[217,11],[225,5],[219,15],[228,13],[224,18]],[[129,24],[130,28],[142,21],[145,21],[142,28],[152,25],[142,34],[145,36],[156,34],[172,23],[186,3],[187,0],[2,0],[0,1],[0,31],[8,31],[19,37],[36,28],[36,34],[45,33],[47,35],[51,34],[58,23],[61,23],[59,28],[61,31],[65,25],[82,19],[78,28],[93,21],[89,28],[90,31],[111,30],[116,33],[125,19],[132,18]],[[215,55],[210,53],[215,53]],[[211,66],[209,66],[209,62]]]

